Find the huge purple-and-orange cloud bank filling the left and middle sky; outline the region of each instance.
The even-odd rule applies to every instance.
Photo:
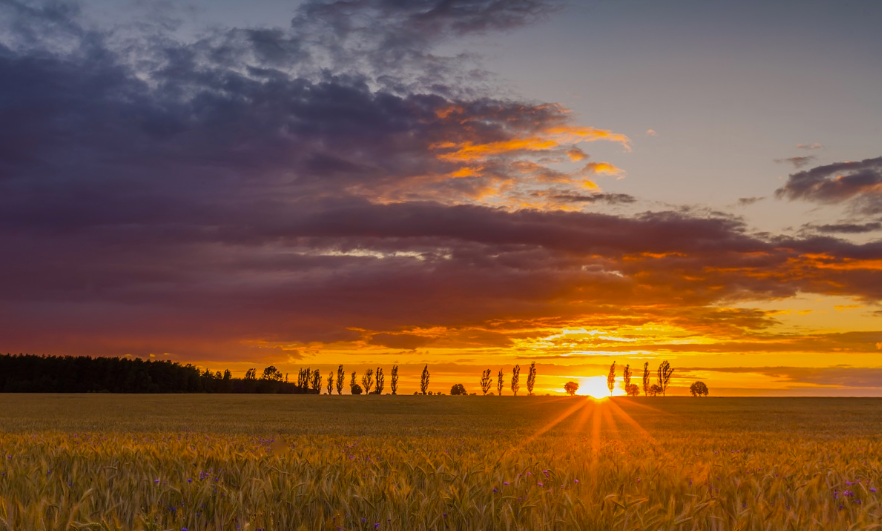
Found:
[[[417,67],[441,61],[431,43],[527,23],[545,3],[310,2],[290,30],[149,46],[84,30],[63,5],[0,2],[0,349],[507,348],[494,323],[616,308],[630,323],[729,331],[769,318],[708,305],[882,298],[879,243],[758,235],[685,210],[482,205],[526,178],[564,178],[522,164],[582,157],[549,131],[610,134],[574,128],[557,105],[468,96],[453,86],[467,76],[426,84]],[[421,55],[401,53],[416,70],[380,81],[372,69],[412,43]],[[316,68],[328,58],[339,68]],[[559,195],[570,208],[633,202]],[[448,333],[436,343],[420,327]]]

